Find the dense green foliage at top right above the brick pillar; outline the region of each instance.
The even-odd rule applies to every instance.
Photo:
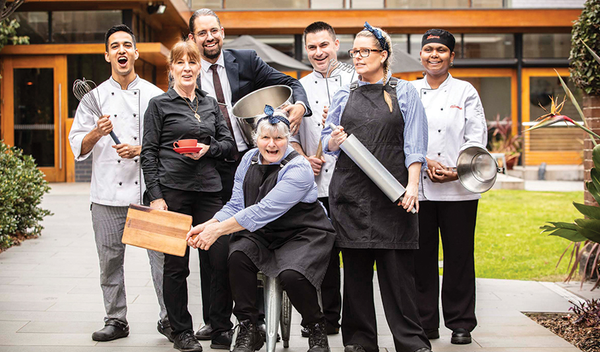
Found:
[[[600,1],[587,0],[579,18],[573,24],[569,56],[571,79],[577,88],[589,95],[600,95],[600,70],[597,69],[592,54],[600,52]]]

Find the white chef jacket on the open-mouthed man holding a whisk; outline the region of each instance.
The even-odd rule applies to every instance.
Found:
[[[104,115],[110,115],[113,131],[121,143],[140,145],[144,132],[144,113],[148,102],[163,91],[154,84],[137,76],[127,89],[113,77],[100,84],[98,92]],[[96,127],[98,116],[83,104],[77,107],[73,127],[69,132],[71,150],[75,161],[83,161],[92,154],[92,185],[89,199],[104,206],[129,206],[142,203],[146,185],[140,168],[139,156],[120,158],[112,147],[115,142],[110,135],[101,137],[87,154],[81,155],[81,143],[86,134]]]

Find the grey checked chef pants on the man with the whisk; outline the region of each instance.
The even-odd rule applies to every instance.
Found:
[[[104,322],[118,320],[127,324],[127,299],[125,298],[125,244],[123,229],[127,219],[126,206],[103,206],[92,203],[92,226],[100,260],[100,287],[104,296],[106,317]],[[148,251],[154,291],[161,307],[161,323],[168,326],[167,310],[163,299],[163,263],[161,252]]]

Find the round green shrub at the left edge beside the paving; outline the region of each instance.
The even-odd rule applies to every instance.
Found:
[[[41,234],[39,222],[51,213],[39,204],[49,189],[32,156],[0,141],[0,250]]]

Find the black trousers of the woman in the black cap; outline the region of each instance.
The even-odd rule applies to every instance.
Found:
[[[475,219],[477,200],[421,201],[415,283],[423,328],[439,327],[439,235],[444,250],[442,312],[446,327],[473,331],[475,318]]]

